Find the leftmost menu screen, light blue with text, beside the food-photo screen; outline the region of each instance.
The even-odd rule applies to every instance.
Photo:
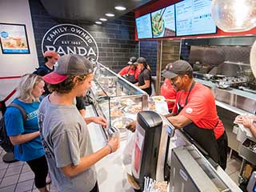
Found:
[[[152,38],[150,14],[136,18],[136,29],[138,38]]]

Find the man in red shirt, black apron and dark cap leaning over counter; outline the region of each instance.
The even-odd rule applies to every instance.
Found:
[[[227,136],[218,118],[214,95],[208,87],[194,82],[192,72],[190,63],[182,60],[169,63],[162,71],[178,91],[168,120],[176,128],[183,128],[225,170]]]

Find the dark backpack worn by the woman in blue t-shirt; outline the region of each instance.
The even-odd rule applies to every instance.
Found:
[[[26,111],[23,109],[22,106],[19,106],[17,103],[10,103],[10,107],[13,106],[15,108],[18,108],[22,112],[23,122],[26,121]],[[6,151],[6,153],[14,152],[14,146],[10,142],[10,138],[7,135],[6,132],[6,125],[5,125],[5,117],[3,117],[0,120],[0,146],[2,146],[2,149]]]

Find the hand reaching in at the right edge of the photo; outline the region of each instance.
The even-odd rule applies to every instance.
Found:
[[[246,128],[250,129],[251,133],[256,137],[256,116],[255,115],[238,115],[234,119],[234,123],[242,124]]]

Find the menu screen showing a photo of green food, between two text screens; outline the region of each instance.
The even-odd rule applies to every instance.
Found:
[[[174,5],[167,6],[151,14],[153,38],[175,36]]]

